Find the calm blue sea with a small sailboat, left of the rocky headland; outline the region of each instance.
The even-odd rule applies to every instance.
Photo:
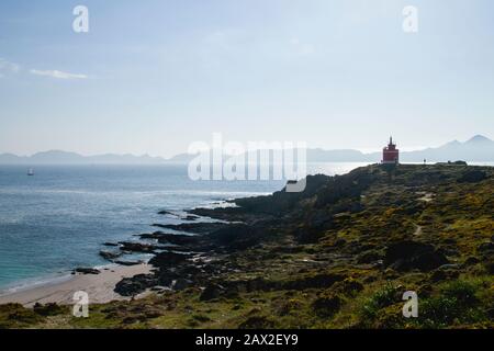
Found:
[[[361,163],[317,163],[311,173],[345,173]],[[0,291],[106,264],[105,241],[132,240],[158,215],[268,194],[284,181],[189,180],[186,166],[0,166]]]

